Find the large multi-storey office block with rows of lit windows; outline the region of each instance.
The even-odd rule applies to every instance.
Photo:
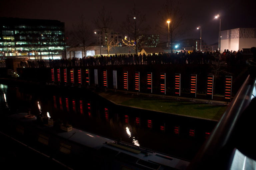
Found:
[[[57,20],[1,17],[0,57],[62,58],[64,28],[64,23]]]

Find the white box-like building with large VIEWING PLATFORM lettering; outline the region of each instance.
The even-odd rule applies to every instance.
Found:
[[[256,46],[256,28],[236,28],[221,31],[220,49],[238,51]]]

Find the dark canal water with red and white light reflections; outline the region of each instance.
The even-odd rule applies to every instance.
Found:
[[[92,133],[191,160],[216,122],[133,109],[84,90],[0,84],[1,114],[48,114]]]

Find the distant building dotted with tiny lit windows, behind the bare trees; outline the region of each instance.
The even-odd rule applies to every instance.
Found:
[[[159,44],[159,35],[141,35],[137,39],[137,47],[138,49],[149,48],[149,47],[157,47]]]

